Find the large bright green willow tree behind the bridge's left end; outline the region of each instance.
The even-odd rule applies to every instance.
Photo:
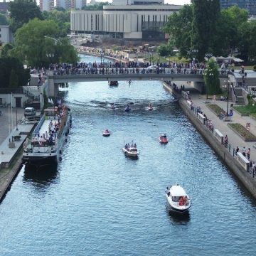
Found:
[[[11,55],[28,61],[31,67],[48,66],[49,63],[78,61],[78,54],[68,38],[60,37],[60,28],[53,20],[35,18],[18,28],[15,47]]]

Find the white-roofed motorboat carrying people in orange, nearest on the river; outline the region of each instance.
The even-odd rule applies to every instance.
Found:
[[[188,213],[191,208],[191,198],[178,184],[166,188],[166,200],[169,210],[174,213]]]

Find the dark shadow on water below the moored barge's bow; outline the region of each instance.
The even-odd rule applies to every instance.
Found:
[[[25,166],[23,181],[38,185],[56,183],[58,176],[57,164],[42,166]]]

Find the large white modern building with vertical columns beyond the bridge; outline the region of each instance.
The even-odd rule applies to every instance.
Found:
[[[146,3],[146,4],[145,4]],[[161,27],[182,6],[164,0],[114,0],[103,11],[71,11],[70,29],[75,34],[94,34],[125,41],[161,41]]]

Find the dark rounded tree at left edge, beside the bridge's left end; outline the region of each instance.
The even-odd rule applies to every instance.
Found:
[[[24,69],[18,58],[0,58],[0,88],[14,88],[27,85],[30,79],[28,69]]]

